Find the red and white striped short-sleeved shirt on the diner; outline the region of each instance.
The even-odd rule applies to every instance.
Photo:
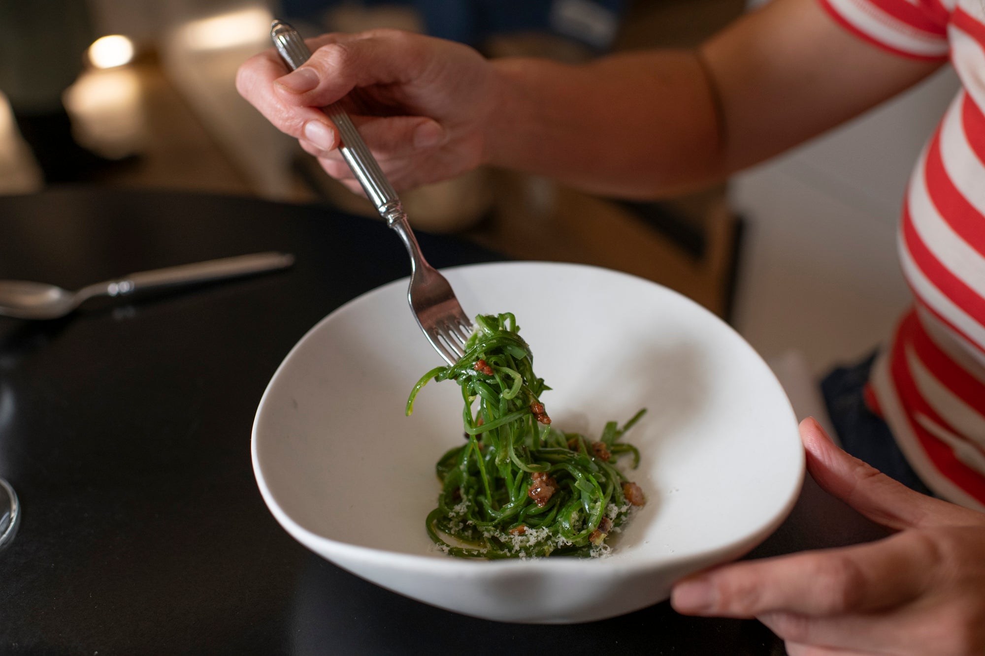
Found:
[[[985,0],[821,0],[904,57],[951,59],[962,83],[917,162],[898,232],[915,296],[867,390],[914,471],[985,510]]]

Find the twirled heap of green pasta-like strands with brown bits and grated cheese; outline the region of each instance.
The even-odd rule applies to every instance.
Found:
[[[642,492],[614,462],[639,451],[620,442],[642,417],[605,426],[598,441],[550,426],[540,395],[548,389],[533,369],[530,347],[510,314],[479,315],[465,355],[428,371],[407,400],[407,414],[429,380],[462,388],[467,442],[441,456],[442,490],[427,515],[427,534],[461,558],[597,556],[628,518]],[[478,407],[476,402],[478,401]],[[442,535],[460,547],[448,544]]]

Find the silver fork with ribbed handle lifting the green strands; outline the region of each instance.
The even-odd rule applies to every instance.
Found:
[[[291,70],[295,70],[311,57],[311,50],[304,39],[287,23],[274,21],[270,37],[281,57]],[[349,114],[338,102],[322,107],[342,137],[339,150],[346,163],[356,174],[366,197],[372,201],[379,216],[397,231],[411,256],[411,285],[407,299],[411,310],[424,331],[427,341],[449,364],[454,364],[465,353],[465,343],[472,334],[472,321],[462,310],[451,285],[421,253],[414,230],[407,221],[407,214],[400,205],[397,192],[362,141]]]

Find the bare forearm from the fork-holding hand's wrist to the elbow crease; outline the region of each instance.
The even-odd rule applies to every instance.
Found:
[[[628,53],[586,66],[493,62],[500,85],[488,164],[598,194],[652,198],[725,174],[714,92],[693,51]]]

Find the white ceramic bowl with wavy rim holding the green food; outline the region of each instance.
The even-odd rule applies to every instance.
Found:
[[[431,549],[434,463],[462,443],[461,394],[411,386],[441,363],[407,307],[407,280],[343,305],[297,343],[253,426],[253,470],[277,521],[316,554],[384,588],[479,618],[600,620],[666,599],[674,581],[738,558],[787,515],[804,456],[779,383],[753,349],[688,298],[594,267],[446,270],[463,307],[511,311],[554,391],[554,425],[624,438],[646,505],[609,558],[465,560]],[[625,461],[624,461],[625,462]]]

